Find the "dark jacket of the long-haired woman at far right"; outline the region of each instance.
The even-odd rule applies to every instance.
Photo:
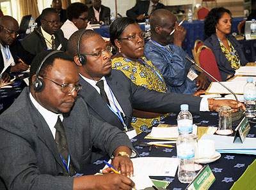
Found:
[[[232,43],[233,47],[235,48],[237,55],[240,59],[240,63],[242,66],[246,65],[248,62],[244,56],[241,44],[236,40],[232,34],[227,35],[228,40]],[[222,81],[226,81],[228,75],[234,75],[235,69],[231,67],[230,62],[228,62],[227,57],[223,54],[220,48],[220,42],[216,34],[212,34],[209,38],[204,41],[204,45],[211,48],[213,54],[215,55],[216,62],[218,64],[218,68],[220,69],[220,75]]]

